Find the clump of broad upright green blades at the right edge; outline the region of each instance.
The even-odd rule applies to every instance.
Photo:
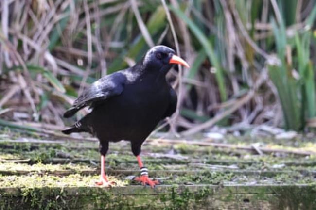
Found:
[[[307,18],[306,28],[315,19],[316,7]],[[286,12],[283,12],[286,14]],[[285,19],[285,18],[284,18]],[[300,130],[306,119],[315,117],[315,77],[310,61],[311,32],[304,30],[287,37],[285,23],[273,21],[277,55],[280,65],[270,65],[270,76],[278,89],[287,129]],[[290,20],[288,20],[290,21]],[[293,55],[296,51],[296,55]]]

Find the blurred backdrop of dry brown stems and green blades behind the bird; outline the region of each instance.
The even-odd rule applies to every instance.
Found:
[[[180,95],[171,121],[178,131],[216,123],[316,127],[315,0],[163,2],[1,0],[0,117],[62,129],[78,93],[154,43],[178,44],[191,65],[168,74]]]

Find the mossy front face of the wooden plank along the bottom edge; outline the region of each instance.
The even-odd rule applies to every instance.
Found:
[[[69,209],[119,210],[137,207],[158,210],[167,204],[168,207],[179,210],[312,210],[315,208],[316,187],[308,184],[240,184],[224,186],[159,185],[155,189],[148,186],[0,188],[0,201],[3,201],[2,204],[0,203],[0,207],[8,202],[11,202],[12,205],[14,202],[18,204],[25,197],[35,200],[58,201],[56,193],[60,194],[61,202],[64,202],[63,205],[67,205]],[[314,199],[308,199],[313,197]],[[24,203],[23,209],[28,209],[27,199],[24,200],[26,203]],[[41,203],[41,205],[45,206],[45,203]]]

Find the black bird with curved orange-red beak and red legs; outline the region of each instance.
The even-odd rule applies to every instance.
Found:
[[[99,139],[101,178],[98,185],[113,184],[105,174],[105,155],[109,142],[121,140],[131,142],[132,152],[137,157],[140,177],[135,180],[151,187],[158,183],[148,178],[148,170],[140,159],[140,148],[158,122],[176,111],[176,92],[166,81],[173,64],[189,67],[173,49],[151,48],[136,65],[95,81],[64,113],[64,117],[71,117],[86,106],[92,109],[62,132],[89,132]]]

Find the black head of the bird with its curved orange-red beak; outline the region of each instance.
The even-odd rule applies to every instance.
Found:
[[[142,63],[145,68],[159,70],[161,73],[167,73],[173,64],[189,67],[187,62],[176,56],[175,50],[162,45],[149,49]]]

